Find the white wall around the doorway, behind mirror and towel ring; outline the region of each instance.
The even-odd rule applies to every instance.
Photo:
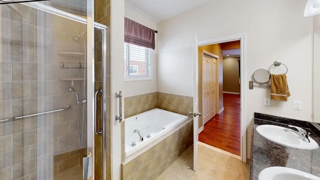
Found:
[[[291,92],[287,102],[271,101],[271,106],[263,105],[263,97],[270,96],[268,89],[247,89],[242,94],[246,102],[247,154],[254,112],[310,121],[312,17],[303,16],[304,6],[304,0],[212,0],[159,22],[158,91],[193,96],[193,33],[198,40],[205,40],[245,32],[245,88],[254,70],[268,69],[274,60],[280,60],[288,67]],[[301,100],[303,109],[293,110],[293,100]]]

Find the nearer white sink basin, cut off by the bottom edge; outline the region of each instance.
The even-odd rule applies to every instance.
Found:
[[[273,166],[263,169],[258,180],[320,180],[320,177],[289,167]]]

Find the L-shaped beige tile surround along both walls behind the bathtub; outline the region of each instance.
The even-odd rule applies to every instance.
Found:
[[[193,98],[189,96],[151,92],[124,98],[124,118],[160,108],[171,112],[189,115],[193,109]]]

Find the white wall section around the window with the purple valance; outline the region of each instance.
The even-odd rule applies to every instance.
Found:
[[[124,7],[124,16],[134,20],[142,25],[145,25],[152,29],[156,28],[156,23],[152,20],[148,19],[145,15],[142,15],[138,13],[136,10],[129,7],[127,4],[125,4]],[[145,94],[150,92],[156,92],[157,90],[157,73],[156,73],[156,34],[155,34],[155,49],[152,50],[152,80],[138,80],[138,81],[125,81],[124,82],[124,97],[129,97],[133,95],[139,95],[139,94]],[[123,68],[122,68],[123,69]]]

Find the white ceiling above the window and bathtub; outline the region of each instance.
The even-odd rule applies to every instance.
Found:
[[[209,1],[211,0],[125,0],[125,5],[158,22]]]

